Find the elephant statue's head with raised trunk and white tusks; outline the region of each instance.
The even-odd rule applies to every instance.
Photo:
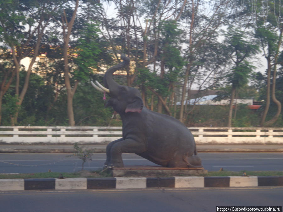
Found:
[[[96,84],[92,83],[92,86],[101,92],[106,92],[111,98],[105,104],[107,106],[113,106],[114,110],[118,113],[127,112],[141,112],[143,102],[140,91],[136,88],[119,85],[113,80],[112,74],[125,67],[130,63],[130,59],[124,54],[121,55],[123,62],[109,68],[103,77],[103,87],[96,81]]]

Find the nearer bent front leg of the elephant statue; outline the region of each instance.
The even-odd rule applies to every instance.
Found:
[[[108,167],[124,167],[122,153],[141,154],[144,151],[146,151],[146,146],[142,141],[125,139],[123,141],[116,142],[112,145],[110,150],[111,159],[108,163]]]

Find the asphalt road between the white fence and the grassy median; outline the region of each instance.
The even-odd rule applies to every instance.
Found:
[[[82,160],[62,153],[2,153],[0,173],[75,172],[81,170]],[[283,171],[283,153],[199,153],[203,166],[208,171]],[[85,170],[103,167],[105,153],[96,153],[92,161],[85,163]],[[135,154],[123,154],[125,166],[154,163]]]

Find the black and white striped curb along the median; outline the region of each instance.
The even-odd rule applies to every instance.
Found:
[[[0,191],[283,186],[283,176],[0,179]]]

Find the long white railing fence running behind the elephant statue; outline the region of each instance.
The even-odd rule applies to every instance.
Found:
[[[197,144],[283,144],[283,128],[189,127]],[[122,137],[122,127],[0,126],[2,144],[101,144]]]

